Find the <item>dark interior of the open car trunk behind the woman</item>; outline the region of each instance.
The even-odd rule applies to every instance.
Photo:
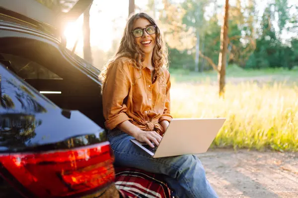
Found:
[[[55,92],[56,94],[50,93],[44,94],[44,96],[60,108],[79,110],[100,127],[105,128],[100,83],[82,72],[82,69],[78,66],[75,67],[74,63],[66,58],[65,54],[61,53],[59,49],[44,42],[30,39],[5,39],[3,42],[0,40],[0,43],[0,54],[2,54],[0,59],[4,58],[10,61],[11,70],[14,70],[14,73],[39,92]],[[38,48],[32,48],[32,46],[38,46]],[[20,60],[9,59],[9,56],[5,54],[22,57],[42,65],[52,75],[45,75],[45,69],[36,72],[34,70],[36,65],[30,67],[31,62],[23,63],[25,66],[17,67],[16,65]],[[30,78],[26,78],[28,73],[31,75]]]

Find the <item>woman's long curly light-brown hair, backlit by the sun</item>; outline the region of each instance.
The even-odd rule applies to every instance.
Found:
[[[107,72],[109,67],[118,59],[121,57],[128,57],[130,59],[130,63],[137,69],[140,70],[143,69],[143,61],[145,58],[145,54],[143,50],[139,47],[137,42],[135,41],[135,38],[133,34],[131,33],[133,31],[134,23],[137,19],[145,18],[149,20],[149,22],[152,25],[156,25],[156,22],[153,18],[151,18],[148,14],[144,12],[136,13],[130,16],[130,18],[127,21],[126,27],[124,29],[124,34],[120,42],[120,46],[113,58],[111,58],[107,64],[104,66],[103,70],[101,71],[99,75],[99,80],[101,80],[102,84],[105,83]],[[165,46],[165,43],[163,42],[162,35],[160,33],[160,30],[157,28],[156,30],[156,36],[155,36],[155,47],[153,49],[152,53],[152,63],[154,65],[155,73],[154,75],[157,77],[159,82],[164,81],[164,72],[162,68],[168,67],[168,51]]]

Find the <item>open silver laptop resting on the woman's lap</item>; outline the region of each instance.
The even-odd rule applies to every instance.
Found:
[[[224,121],[225,118],[174,118],[158,147],[151,148],[136,139],[131,141],[153,158],[203,153],[210,147]]]

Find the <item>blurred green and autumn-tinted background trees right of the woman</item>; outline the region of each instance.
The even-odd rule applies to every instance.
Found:
[[[298,65],[298,37],[292,37],[286,41],[281,37],[283,31],[297,34],[298,6],[289,6],[288,0],[273,1],[273,4],[268,4],[265,8],[261,18],[256,17],[258,13],[255,9],[258,4],[256,0],[248,0],[247,3],[236,0],[236,4],[230,6],[227,63],[234,63],[246,69],[275,67],[292,69]],[[173,4],[170,1],[167,2]],[[184,15],[179,19],[181,26],[178,32],[192,30],[194,33],[188,37],[200,38],[201,53],[217,65],[222,19],[218,17],[217,12],[213,12],[213,15],[206,18],[204,14],[208,6],[211,4],[206,0],[182,1],[180,9],[184,9]],[[216,2],[215,7],[217,7]],[[175,23],[177,20],[176,18]],[[167,23],[171,22],[167,21]],[[181,27],[184,28],[181,29]],[[174,43],[173,40],[170,42]],[[187,48],[188,50],[171,45],[171,68],[195,70],[195,66],[191,65],[195,63],[195,43],[192,45],[192,48]],[[213,70],[202,56],[199,59],[199,67],[204,71]]]

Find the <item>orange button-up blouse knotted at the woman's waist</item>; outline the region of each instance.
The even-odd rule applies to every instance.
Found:
[[[129,58],[122,57],[110,66],[102,90],[105,126],[112,130],[129,120],[144,131],[164,133],[159,124],[171,121],[170,115],[170,74],[163,69],[165,80],[155,77],[151,81],[151,71],[143,67],[140,71],[133,67]]]

